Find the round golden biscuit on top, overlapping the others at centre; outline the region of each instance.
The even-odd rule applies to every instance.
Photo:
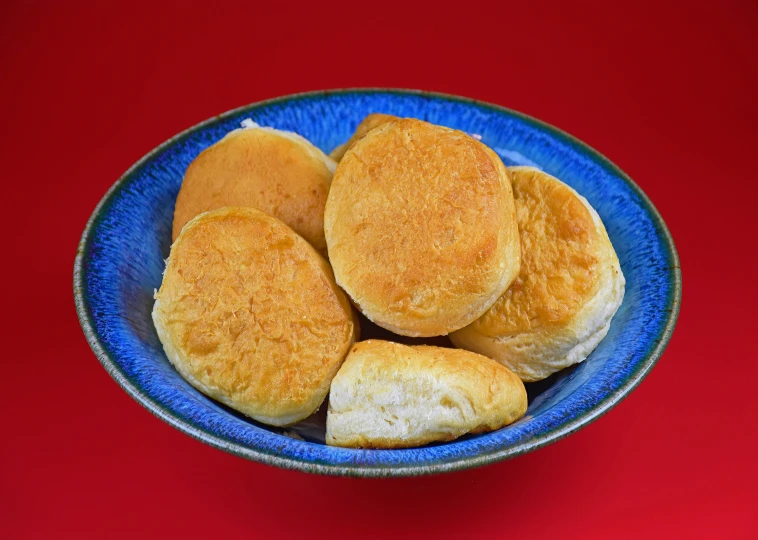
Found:
[[[324,214],[337,283],[396,334],[445,335],[480,317],[519,271],[511,184],[497,155],[415,119],[345,154]]]

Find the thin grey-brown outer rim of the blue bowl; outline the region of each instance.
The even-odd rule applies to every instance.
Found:
[[[522,443],[506,448],[499,448],[484,454],[480,454],[475,457],[463,457],[454,461],[448,461],[444,463],[433,463],[429,465],[407,465],[407,466],[360,466],[360,465],[330,465],[327,463],[314,463],[304,461],[296,458],[282,457],[272,455],[266,452],[262,452],[255,448],[251,448],[236,442],[232,442],[223,439],[213,433],[199,429],[190,422],[182,420],[173,415],[168,409],[166,409],[161,403],[154,400],[147,394],[145,394],[140,388],[138,388],[131,380],[124,374],[119,367],[118,363],[111,358],[110,354],[103,346],[99,339],[95,325],[93,322],[92,314],[89,309],[89,304],[86,298],[85,290],[85,256],[88,252],[90,241],[93,237],[93,231],[95,225],[98,222],[99,217],[102,215],[103,210],[108,206],[113,196],[120,190],[131,177],[131,175],[143,166],[146,162],[152,159],[155,155],[163,152],[165,149],[171,147],[176,142],[186,137],[187,135],[200,130],[208,125],[223,120],[231,116],[237,116],[246,111],[267,105],[273,105],[277,103],[286,103],[296,99],[303,98],[317,98],[326,97],[329,95],[341,95],[341,94],[399,94],[399,95],[414,95],[424,96],[431,98],[440,98],[449,101],[456,101],[459,103],[476,105],[484,109],[490,109],[498,113],[505,113],[507,115],[516,117],[522,121],[532,124],[544,131],[549,132],[551,135],[557,136],[564,142],[577,147],[585,153],[588,153],[600,163],[602,166],[610,170],[614,175],[618,176],[621,180],[626,182],[632,191],[640,198],[643,203],[645,211],[650,215],[654,222],[659,238],[661,238],[665,244],[667,256],[671,261],[671,265],[668,268],[668,276],[672,282],[672,293],[668,299],[668,306],[666,311],[668,312],[668,318],[666,324],[661,332],[657,343],[648,353],[643,362],[640,363],[638,368],[628,376],[627,380],[613,393],[604,397],[595,407],[586,411],[584,414],[562,424],[558,428],[554,428],[546,433],[532,437]],[[650,373],[652,368],[660,359],[663,354],[666,345],[671,339],[674,327],[676,326],[677,318],[679,316],[681,298],[682,298],[682,277],[681,267],[679,262],[679,255],[674,245],[674,240],[671,236],[666,223],[663,221],[660,213],[650,201],[645,192],[617,165],[611,160],[606,158],[603,154],[582,142],[573,135],[551,125],[547,122],[529,116],[527,114],[509,109],[507,107],[480,101],[473,98],[457,96],[454,94],[446,94],[442,92],[432,92],[426,90],[417,89],[403,89],[403,88],[380,88],[380,87],[367,87],[367,88],[340,88],[329,90],[315,90],[309,92],[299,92],[294,94],[287,94],[271,99],[261,100],[253,102],[235,109],[226,111],[220,115],[213,116],[202,122],[199,122],[179,133],[173,137],[167,139],[160,145],[153,148],[147,154],[142,156],[137,162],[135,162],[129,169],[124,172],[118,180],[106,191],[105,195],[100,199],[97,206],[93,210],[87,224],[82,232],[81,239],[77,246],[76,257],[74,260],[74,274],[73,274],[73,286],[74,286],[74,302],[76,305],[76,312],[79,318],[79,323],[84,331],[84,335],[90,348],[95,353],[95,356],[100,361],[102,366],[113,378],[114,381],[129,394],[135,401],[150,411],[152,414],[170,424],[176,429],[186,433],[187,435],[202,441],[210,446],[229,452],[239,457],[251,459],[267,465],[273,465],[285,469],[295,469],[316,474],[326,475],[338,475],[338,476],[358,476],[358,477],[385,477],[385,476],[418,476],[427,474],[437,474],[443,472],[452,472],[462,469],[469,469],[474,467],[481,467],[498,461],[502,461],[508,458],[512,458],[538,448],[542,448],[547,444],[556,442],[575,431],[583,428],[590,423],[594,422],[610,409],[620,403],[626,396],[628,396],[632,390],[634,390],[640,382]]]

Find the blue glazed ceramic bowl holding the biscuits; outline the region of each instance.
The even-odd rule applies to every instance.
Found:
[[[585,362],[527,385],[529,409],[515,424],[416,449],[332,448],[319,442],[318,435],[309,436],[307,425],[301,434],[310,440],[298,440],[205,397],[179,376],[163,353],[150,312],[187,165],[245,118],[300,133],[328,152],[347,140],[371,112],[421,118],[479,134],[506,165],[534,165],[573,186],[605,222],[626,276],[624,303],[608,336]],[[608,411],[639,384],[666,346],[679,310],[681,274],[671,235],[645,194],[613,163],[570,135],[470,99],[360,89],[248,105],[188,129],[147,154],[106,193],[87,223],[76,256],[74,294],[87,340],[108,373],[144,407],[185,433],[280,467],[405,476],[517,456],[565,437]]]

